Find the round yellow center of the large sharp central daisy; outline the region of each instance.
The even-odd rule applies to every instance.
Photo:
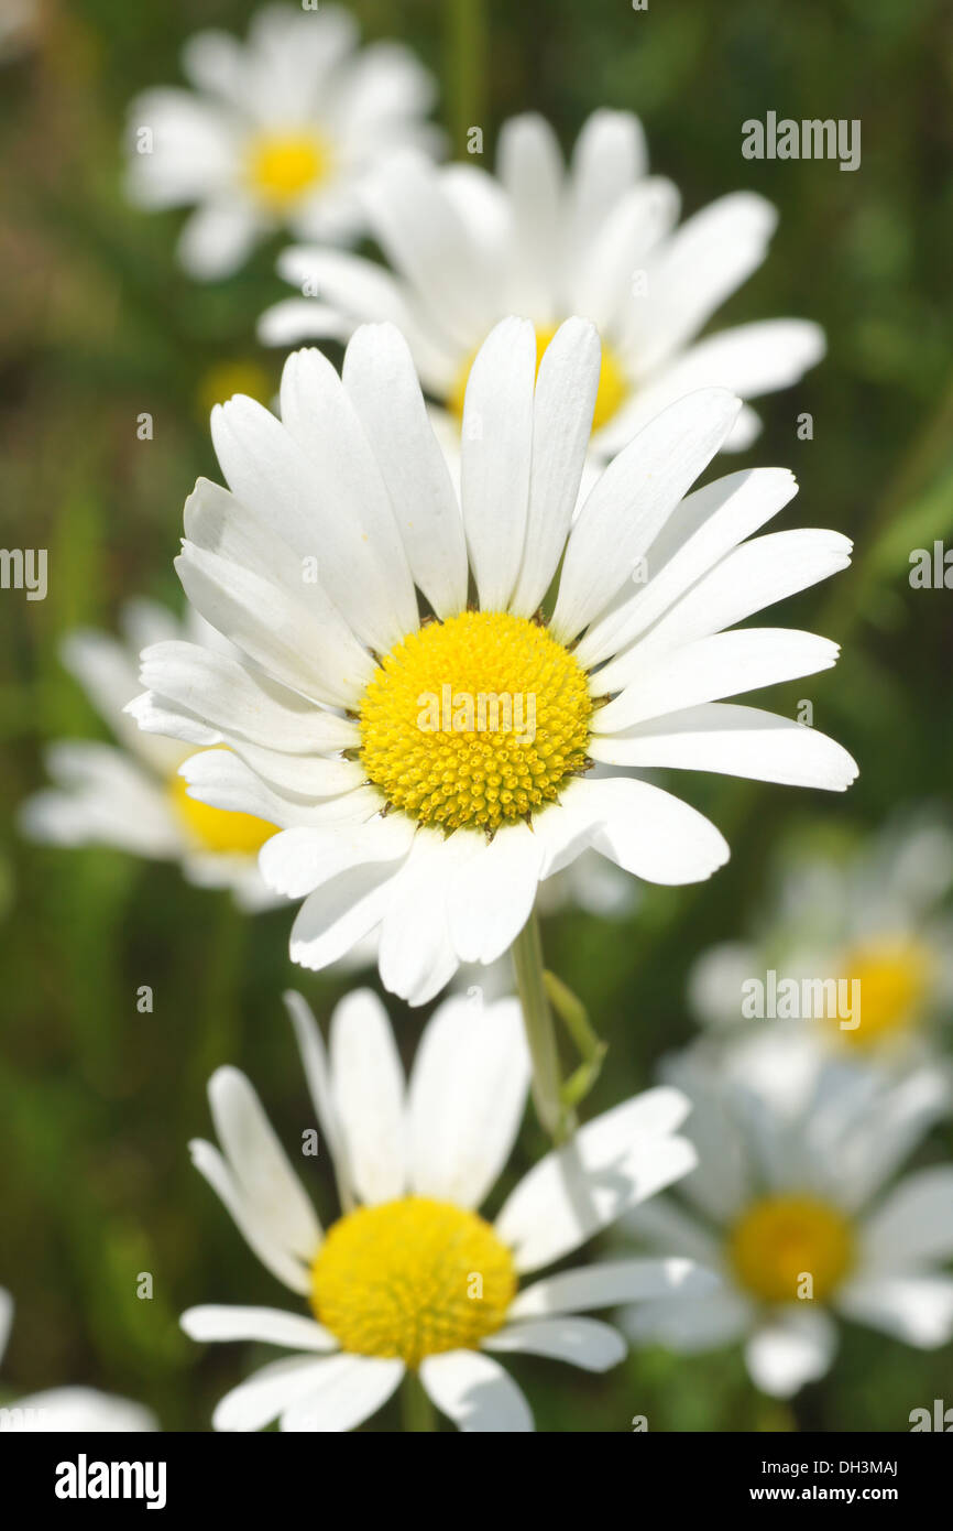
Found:
[[[587,769],[590,713],[584,671],[546,628],[463,611],[379,661],[361,701],[361,762],[422,824],[493,833]]]

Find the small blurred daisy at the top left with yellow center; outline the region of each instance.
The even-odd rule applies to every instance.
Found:
[[[182,54],[191,90],[158,89],[128,112],[128,194],[194,205],[179,242],[193,277],[229,276],[278,228],[338,242],[364,222],[356,190],[398,145],[434,147],[433,84],[396,43],[358,49],[333,5],[268,6],[248,41],[199,32]]]

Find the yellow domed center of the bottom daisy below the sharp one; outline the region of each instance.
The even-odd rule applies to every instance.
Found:
[[[330,1228],[312,1266],[318,1323],[356,1355],[416,1367],[474,1350],[516,1294],[509,1249],[476,1213],[424,1196],[359,1206]]]

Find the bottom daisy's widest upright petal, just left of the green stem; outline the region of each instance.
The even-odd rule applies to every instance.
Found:
[[[418,1196],[479,1206],[512,1148],[529,1055],[516,1000],[447,1000],[410,1078],[410,1182]]]

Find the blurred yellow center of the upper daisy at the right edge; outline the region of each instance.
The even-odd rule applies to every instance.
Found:
[[[855,946],[841,971],[858,984],[860,1026],[838,1027],[838,1035],[854,1046],[877,1046],[918,1020],[933,984],[935,957],[901,935]]]

